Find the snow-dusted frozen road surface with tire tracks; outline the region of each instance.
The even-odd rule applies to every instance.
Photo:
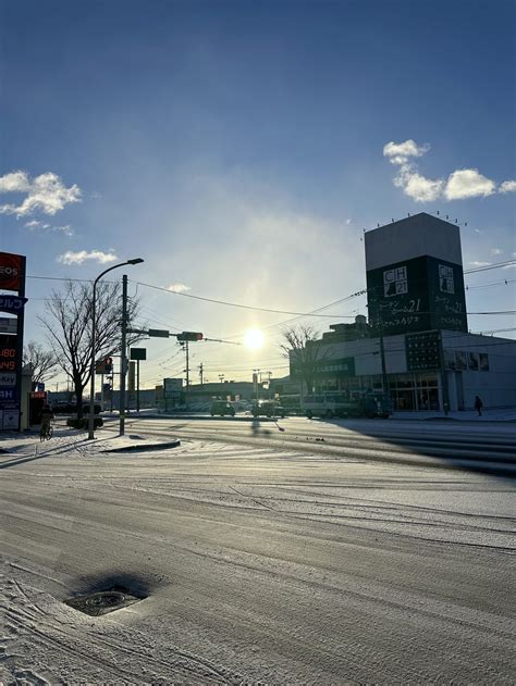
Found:
[[[463,462],[509,433],[391,426],[3,440],[0,682],[514,684],[514,482]],[[139,600],[65,602],[112,588]]]

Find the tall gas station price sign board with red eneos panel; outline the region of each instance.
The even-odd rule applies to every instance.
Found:
[[[25,267],[24,255],[0,252],[0,311],[15,314],[17,319],[16,336],[0,334],[0,429],[21,428]],[[2,295],[4,290],[14,291],[17,297],[7,297]]]

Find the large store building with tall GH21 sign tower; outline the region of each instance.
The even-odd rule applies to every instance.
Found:
[[[471,409],[476,395],[515,407],[516,341],[468,333],[458,227],[421,213],[366,233],[365,247],[369,324],[334,324],[311,344],[308,390],[383,390],[397,411]]]

